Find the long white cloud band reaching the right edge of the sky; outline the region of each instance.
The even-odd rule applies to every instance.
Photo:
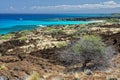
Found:
[[[32,6],[32,10],[80,10],[80,9],[105,9],[105,8],[120,8],[120,3],[115,1],[107,1],[98,4],[80,4],[80,5],[57,5],[57,6]]]

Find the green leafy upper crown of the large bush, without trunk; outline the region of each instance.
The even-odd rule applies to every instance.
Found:
[[[76,45],[73,46],[73,50],[79,53],[103,53],[104,43],[101,41],[101,38],[99,36],[87,35],[84,36]]]

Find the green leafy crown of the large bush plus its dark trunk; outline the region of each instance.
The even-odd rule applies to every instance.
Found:
[[[91,60],[93,60],[94,63],[98,63],[101,60],[104,55],[105,44],[99,36],[87,35],[81,38],[81,40],[72,47],[72,50],[82,56],[84,68]]]

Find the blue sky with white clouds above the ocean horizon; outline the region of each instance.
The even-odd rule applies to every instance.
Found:
[[[0,0],[0,13],[120,13],[120,0]]]

